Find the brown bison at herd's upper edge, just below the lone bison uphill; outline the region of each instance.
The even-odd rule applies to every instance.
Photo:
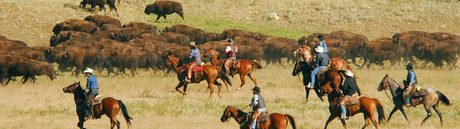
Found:
[[[189,35],[193,41],[200,40],[200,38],[205,34],[204,31],[199,28],[193,28],[181,24],[174,24],[172,27],[166,27],[163,29],[163,32]]]

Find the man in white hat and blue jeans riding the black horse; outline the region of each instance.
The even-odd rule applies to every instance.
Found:
[[[316,73],[320,72],[321,69],[327,68],[329,64],[329,56],[328,54],[324,53],[324,49],[321,46],[315,48],[316,52],[318,52],[318,56],[315,58],[315,62],[318,65],[313,71],[311,71],[311,82],[308,83],[306,86],[307,88],[313,89],[315,86],[315,75]]]

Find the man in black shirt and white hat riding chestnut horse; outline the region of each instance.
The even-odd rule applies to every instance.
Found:
[[[342,116],[340,116],[339,119],[348,119],[346,116],[346,109],[345,109],[345,103],[351,99],[351,97],[358,93],[358,95],[361,95],[361,90],[359,90],[358,85],[356,84],[355,78],[352,76],[354,75],[351,73],[350,70],[347,70],[346,73],[346,78],[344,81],[344,84],[342,86],[339,86],[339,90],[343,91],[343,97],[342,100],[340,100],[340,109],[342,110]]]

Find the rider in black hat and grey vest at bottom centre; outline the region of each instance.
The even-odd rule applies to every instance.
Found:
[[[253,89],[253,99],[251,100],[251,104],[249,106],[253,107],[253,114],[252,114],[252,119],[253,121],[251,122],[251,129],[256,129],[256,122],[257,118],[259,117],[260,113],[265,112],[265,107],[267,104],[265,103],[264,97],[260,95],[260,88],[257,86],[254,86]],[[245,124],[249,123],[249,119],[244,122]]]

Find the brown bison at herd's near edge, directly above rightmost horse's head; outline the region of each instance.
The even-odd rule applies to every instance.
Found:
[[[369,60],[368,68],[371,67],[371,63],[374,63],[379,65],[383,69],[385,69],[383,61],[388,60],[391,62],[390,67],[388,67],[390,69],[395,65],[397,60],[396,53],[388,50],[378,50],[373,53],[368,53],[367,59]]]

